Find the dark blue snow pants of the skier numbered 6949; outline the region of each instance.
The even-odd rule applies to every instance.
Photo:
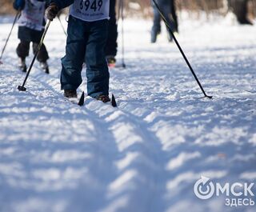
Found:
[[[77,90],[82,83],[82,64],[86,62],[87,94],[92,98],[109,94],[109,70],[105,46],[108,20],[85,22],[70,15],[66,55],[62,58],[62,90]]]

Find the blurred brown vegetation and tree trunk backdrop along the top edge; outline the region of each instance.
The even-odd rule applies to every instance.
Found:
[[[0,14],[14,14],[12,0],[0,0]],[[118,2],[118,1],[117,1]],[[126,17],[151,18],[153,11],[150,0],[124,0]],[[176,0],[176,10],[179,14],[186,10],[190,18],[200,18],[200,15],[219,14],[225,17],[233,13],[241,24],[252,24],[256,17],[256,0]]]

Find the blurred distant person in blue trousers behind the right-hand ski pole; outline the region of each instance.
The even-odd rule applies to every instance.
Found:
[[[175,22],[173,18],[170,18],[170,14],[172,14],[172,11],[174,10],[174,0],[155,0],[157,2],[160,10],[162,11],[162,14],[165,16],[166,21],[170,25],[170,29],[174,32],[175,31]],[[157,7],[154,5],[154,2],[152,2],[153,10],[154,10],[154,21],[153,26],[151,30],[151,42],[154,43],[157,41],[158,34],[161,33],[161,16],[158,12]],[[170,30],[167,29],[167,35],[169,42],[172,42],[173,38],[170,34]]]

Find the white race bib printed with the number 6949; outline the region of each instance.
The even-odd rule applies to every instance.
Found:
[[[86,22],[109,19],[110,0],[74,0],[70,14]]]

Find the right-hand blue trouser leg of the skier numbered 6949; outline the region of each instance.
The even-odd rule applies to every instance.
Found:
[[[108,34],[108,21],[90,22],[90,36],[86,45],[87,94],[92,98],[109,94],[109,70],[104,47]]]

